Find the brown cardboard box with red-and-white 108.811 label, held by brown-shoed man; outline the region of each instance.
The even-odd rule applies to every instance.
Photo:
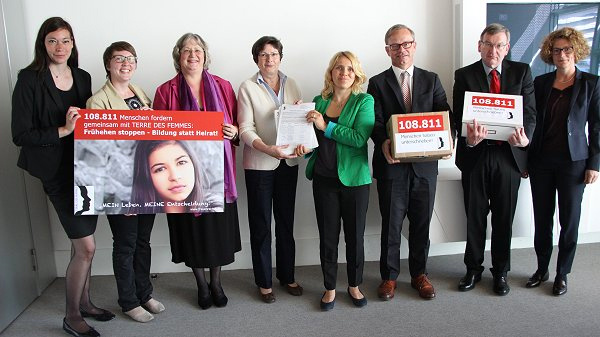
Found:
[[[401,162],[433,161],[452,154],[448,111],[392,115],[387,130],[392,157]]]

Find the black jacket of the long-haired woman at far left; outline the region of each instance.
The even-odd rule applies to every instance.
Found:
[[[92,96],[90,74],[71,68],[77,90],[78,107]],[[17,166],[43,180],[56,176],[63,148],[73,146],[73,136],[58,137],[58,127],[65,125],[69,107],[64,105],[50,71],[38,74],[23,69],[19,72],[12,96],[12,136],[21,147]],[[72,149],[69,149],[72,153]]]

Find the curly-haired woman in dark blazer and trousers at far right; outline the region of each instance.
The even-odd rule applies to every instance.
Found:
[[[534,80],[537,124],[529,149],[529,173],[538,267],[526,287],[548,280],[558,192],[560,236],[554,295],[567,292],[583,191],[598,179],[600,166],[599,78],[575,66],[589,53],[581,32],[569,27],[554,31],[544,39],[540,56],[556,71]]]

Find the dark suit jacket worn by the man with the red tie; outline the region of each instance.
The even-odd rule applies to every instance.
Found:
[[[462,128],[465,91],[490,92],[481,60],[454,72],[454,90],[452,91],[454,125],[459,134]],[[529,65],[509,60],[502,61],[500,93],[523,96],[523,127],[527,138],[531,141],[535,129],[535,96]],[[468,172],[473,168],[484,147],[487,146],[485,142],[481,142],[473,148],[468,148],[466,136],[461,135],[456,144],[456,166],[463,172]],[[524,172],[527,169],[527,149],[515,146],[510,148],[516,168],[519,172]]]

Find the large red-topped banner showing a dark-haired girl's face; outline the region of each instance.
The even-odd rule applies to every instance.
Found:
[[[222,112],[79,113],[73,214],[224,211]]]

